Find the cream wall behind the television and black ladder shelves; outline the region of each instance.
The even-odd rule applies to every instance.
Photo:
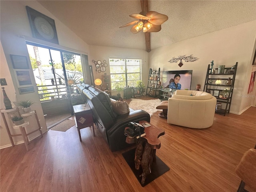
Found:
[[[231,67],[238,62],[234,95],[230,112],[240,114],[253,103],[253,98],[241,97],[247,95],[252,70],[251,57],[254,54],[256,39],[256,21],[247,22],[224,30],[212,32],[172,45],[152,50],[149,55],[149,67],[160,67],[163,70],[193,70],[191,89],[196,90],[196,84],[204,87],[208,64],[214,60],[214,68],[218,65]],[[171,36],[171,34],[170,34]],[[195,62],[183,62],[180,68],[178,63],[169,63],[172,57],[190,55],[199,58]],[[254,86],[255,95],[256,86]]]

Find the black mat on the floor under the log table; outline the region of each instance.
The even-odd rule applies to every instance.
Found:
[[[134,175],[136,176],[136,178],[141,184],[142,177],[140,177],[140,175],[142,174],[142,168],[140,168],[139,170],[135,169],[135,164],[134,164],[135,150],[136,148],[130,151],[124,152],[122,153],[122,155],[126,160],[127,164],[132,169],[132,172],[134,173]],[[147,184],[149,184],[150,182],[152,182],[153,180],[155,180],[156,178],[158,178],[168,170],[170,170],[170,168],[162,160],[160,160],[158,156],[156,156],[156,162],[152,162],[152,165],[151,165],[151,173],[146,176],[145,183],[144,185],[141,184],[141,186],[142,187],[146,186]]]

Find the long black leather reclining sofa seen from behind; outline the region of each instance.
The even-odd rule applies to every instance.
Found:
[[[130,109],[130,113],[117,116],[112,110],[110,96],[94,86],[82,83],[77,88],[92,109],[94,122],[113,152],[129,146],[124,135],[129,122],[150,122],[150,115],[144,110]]]

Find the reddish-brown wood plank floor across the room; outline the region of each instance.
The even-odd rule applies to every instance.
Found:
[[[147,99],[147,98],[146,98]],[[256,144],[256,107],[241,115],[215,114],[207,129],[167,124],[155,113],[151,123],[164,128],[157,156],[170,170],[142,187],[122,152],[111,152],[100,132],[76,127],[49,130],[27,152],[24,144],[2,149],[1,192],[236,192],[234,170]]]

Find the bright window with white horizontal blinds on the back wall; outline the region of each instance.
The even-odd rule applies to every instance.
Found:
[[[136,87],[141,80],[141,59],[109,58],[112,89]]]

